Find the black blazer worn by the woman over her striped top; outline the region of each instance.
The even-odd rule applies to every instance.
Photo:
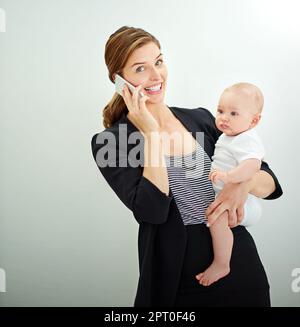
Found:
[[[211,158],[220,132],[215,126],[213,115],[206,109],[183,109],[170,107],[173,114],[186,129],[196,137],[196,132],[204,132],[204,150]],[[136,144],[120,144],[119,125],[126,124],[127,135],[138,129],[126,117],[126,110],[121,118],[110,128],[105,129],[116,137],[117,150],[124,155]],[[124,126],[124,125],[123,125]],[[105,145],[100,141],[101,134],[92,138],[92,151],[97,163],[97,153]],[[97,142],[98,139],[98,142]],[[172,306],[175,301],[181,267],[186,247],[185,227],[174,201],[172,191],[169,195],[161,192],[152,182],[145,178],[143,167],[118,167],[120,160],[117,151],[117,167],[99,167],[102,175],[120,200],[129,208],[139,223],[138,256],[139,282],[134,301],[136,307]],[[266,199],[276,199],[282,195],[280,184],[263,162],[261,169],[267,171],[274,179],[276,190]],[[210,251],[208,249],[208,251]]]

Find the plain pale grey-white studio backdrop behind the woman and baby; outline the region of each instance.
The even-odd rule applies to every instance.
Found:
[[[248,81],[265,95],[259,131],[284,197],[250,229],[274,306],[299,306],[300,3],[295,0],[0,0],[1,306],[131,306],[137,223],[92,158],[114,90],[103,54],[122,25],[162,44],[166,102],[215,113]],[[251,278],[251,276],[245,276]]]

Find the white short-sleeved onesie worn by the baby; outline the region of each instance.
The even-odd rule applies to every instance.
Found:
[[[215,146],[215,152],[212,157],[212,170],[228,171],[237,167],[246,159],[262,160],[265,155],[264,146],[257,134],[255,128],[247,130],[236,136],[227,136],[222,134]],[[216,195],[223,188],[224,183],[219,181],[213,183]],[[256,223],[261,217],[261,199],[252,194],[248,194],[244,206],[243,226],[250,226]]]

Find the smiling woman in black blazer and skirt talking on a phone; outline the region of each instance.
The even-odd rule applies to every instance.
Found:
[[[134,306],[270,306],[269,284],[254,241],[237,225],[248,192],[275,199],[281,187],[263,163],[251,181],[226,185],[213,201],[207,176],[220,133],[208,110],[164,103],[167,68],[160,49],[158,40],[142,29],[124,26],[110,36],[105,49],[110,80],[119,74],[138,87],[133,94],[125,87],[123,97],[114,95],[103,111],[105,131],[92,138],[101,173],[139,223],[140,277]],[[139,165],[130,157],[138,142],[128,140],[136,132],[142,136]],[[197,132],[204,133],[201,145]],[[174,133],[180,137],[170,143],[165,135]],[[108,166],[103,164],[105,152]],[[198,153],[204,168],[199,178],[185,178],[186,167],[163,164],[167,158],[174,162]],[[153,162],[159,164],[149,164]],[[205,210],[210,224],[228,210],[234,234],[231,273],[209,287],[197,279],[213,258]]]

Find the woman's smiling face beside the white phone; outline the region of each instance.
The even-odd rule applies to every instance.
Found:
[[[123,77],[132,85],[141,85],[149,97],[148,103],[163,103],[167,83],[167,67],[158,46],[150,42],[136,49],[122,70]]]

